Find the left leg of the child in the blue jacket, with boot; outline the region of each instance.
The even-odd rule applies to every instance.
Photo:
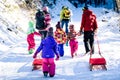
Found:
[[[49,62],[48,62],[48,59],[46,58],[43,58],[42,59],[42,69],[43,69],[43,74],[45,77],[47,77],[48,75],[48,72],[49,72]]]

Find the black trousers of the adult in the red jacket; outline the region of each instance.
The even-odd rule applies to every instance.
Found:
[[[94,53],[94,32],[85,31],[84,32],[84,46],[86,53],[91,50]]]

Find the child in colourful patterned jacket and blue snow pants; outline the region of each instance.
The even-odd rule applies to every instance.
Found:
[[[54,32],[54,38],[58,44],[58,51],[60,56],[64,56],[64,44],[66,43],[67,36],[64,30],[60,27],[60,22],[56,25],[56,31]]]

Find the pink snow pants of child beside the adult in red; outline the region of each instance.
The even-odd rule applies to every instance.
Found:
[[[71,56],[74,57],[75,54],[77,54],[78,50],[78,41],[76,39],[71,39],[69,42],[70,49],[71,49]]]

